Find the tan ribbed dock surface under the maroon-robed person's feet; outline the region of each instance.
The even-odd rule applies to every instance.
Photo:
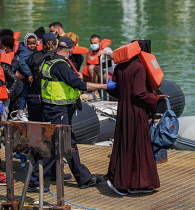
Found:
[[[103,177],[107,172],[112,147],[79,145],[81,161],[95,176]],[[4,149],[0,157],[4,160]],[[2,163],[4,171],[5,163]],[[19,170],[19,171],[18,171]],[[20,201],[26,173],[21,171],[20,164],[14,159],[15,200]],[[65,172],[70,173],[65,165]],[[161,187],[154,193],[119,196],[103,180],[96,187],[79,189],[72,178],[64,181],[65,200],[77,204],[69,204],[72,209],[101,210],[153,210],[153,209],[195,209],[195,152],[168,151],[168,161],[158,164]],[[56,195],[55,182],[45,179],[45,186]],[[39,200],[38,193],[27,193],[26,203],[33,204]],[[0,202],[6,201],[6,187],[0,186]],[[56,204],[56,198],[49,193],[44,194],[46,204]]]

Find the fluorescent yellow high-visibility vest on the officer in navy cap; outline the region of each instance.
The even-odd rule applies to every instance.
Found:
[[[63,59],[55,59],[45,61],[42,64],[43,79],[41,79],[41,96],[42,100],[46,103],[56,105],[74,104],[80,97],[81,91],[74,89],[63,81],[51,76],[51,68],[58,62],[64,62],[69,67],[70,64]]]

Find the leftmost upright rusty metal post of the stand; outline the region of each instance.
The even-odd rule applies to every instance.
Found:
[[[5,165],[7,178],[7,203],[2,203],[2,206],[12,207],[13,210],[18,209],[18,202],[14,201],[14,176],[13,176],[13,152],[12,152],[12,125],[11,122],[6,122],[5,129]]]

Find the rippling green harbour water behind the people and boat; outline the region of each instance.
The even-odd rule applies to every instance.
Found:
[[[89,47],[98,34],[114,50],[134,39],[150,39],[165,79],[178,84],[186,105],[182,116],[195,115],[194,0],[1,0],[0,28],[27,32],[59,21],[66,32]]]

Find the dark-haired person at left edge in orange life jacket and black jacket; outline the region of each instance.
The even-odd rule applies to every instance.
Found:
[[[1,116],[2,121],[6,121],[8,119],[10,100],[14,97],[17,88],[17,78],[15,77],[11,66],[12,56],[9,56],[9,53],[13,52],[13,46],[14,46],[13,37],[9,35],[0,37],[0,52],[5,54],[4,60],[1,60],[0,62],[5,73],[6,87],[9,93],[8,100],[3,101],[4,110]]]

